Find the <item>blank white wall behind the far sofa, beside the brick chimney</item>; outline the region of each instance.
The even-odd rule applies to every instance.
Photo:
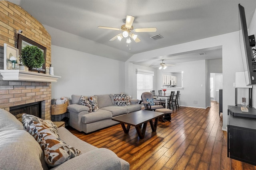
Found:
[[[52,45],[52,98],[125,92],[124,62]]]

